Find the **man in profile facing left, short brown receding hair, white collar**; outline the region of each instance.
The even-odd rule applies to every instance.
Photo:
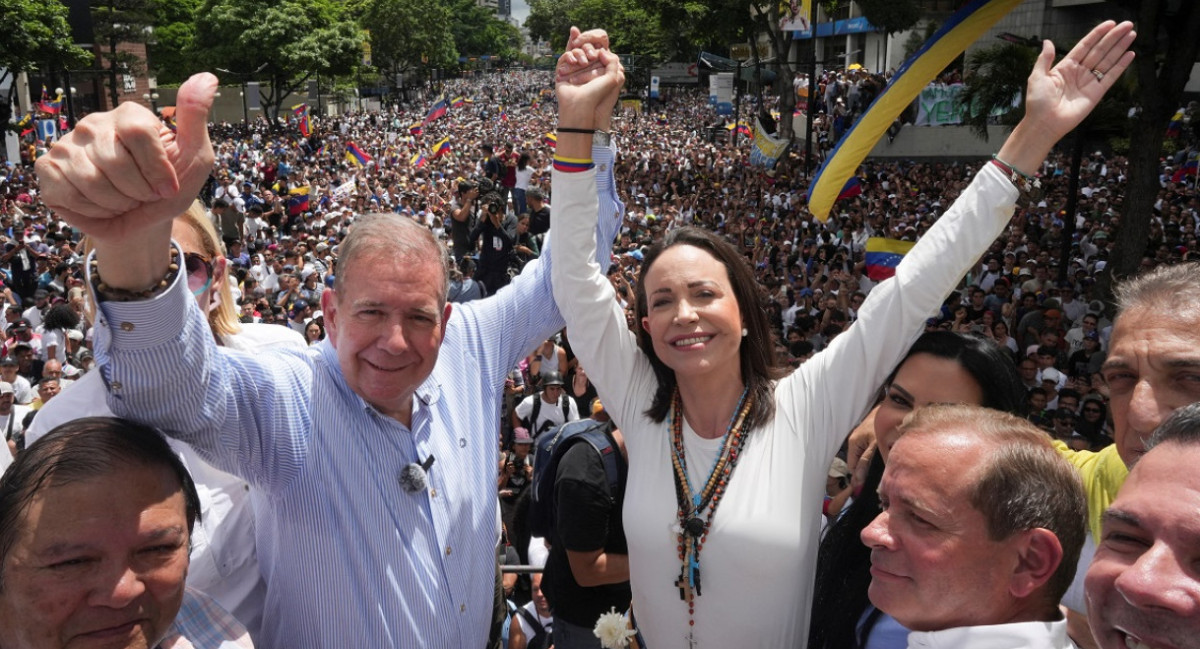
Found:
[[[1087,500],[1030,422],[973,405],[917,410],[880,439],[882,513],[863,530],[871,603],[908,647],[1068,649],[1058,601],[1075,575]]]

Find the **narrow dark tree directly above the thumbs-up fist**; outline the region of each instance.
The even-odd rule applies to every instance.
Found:
[[[148,0],[92,0],[91,20],[96,44],[104,48],[104,77],[108,80],[108,98],[112,106],[120,103],[119,76],[139,76],[145,72],[145,61],[122,43],[145,43],[154,29],[154,7]]]

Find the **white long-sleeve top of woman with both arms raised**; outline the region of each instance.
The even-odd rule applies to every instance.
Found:
[[[674,585],[680,561],[671,434],[668,422],[642,414],[655,392],[654,373],[595,260],[595,172],[554,172],[553,191],[560,218],[551,239],[562,259],[552,271],[554,300],[629,449],[624,516],[634,611],[649,647],[686,647],[688,608]],[[871,292],[858,322],[779,381],[775,417],[751,431],[700,557],[696,647],[803,644],[829,462],[925,319],[1000,235],[1016,196],[985,166],[895,277]],[[686,420],[683,434],[690,480],[702,483],[720,440],[700,438]]]

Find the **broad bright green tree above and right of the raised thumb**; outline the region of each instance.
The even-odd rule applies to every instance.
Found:
[[[335,0],[204,0],[190,54],[239,82],[269,82],[260,92],[274,121],[313,74],[353,72],[365,38]]]

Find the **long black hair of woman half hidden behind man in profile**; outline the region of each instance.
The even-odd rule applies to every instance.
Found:
[[[900,367],[917,354],[958,362],[979,384],[983,392],[979,405],[1025,416],[1025,386],[1008,349],[982,336],[950,331],[930,331],[917,338],[883,383],[880,401]],[[882,615],[878,609],[870,609],[859,629],[859,620],[871,603],[866,597],[866,588],[871,584],[871,551],[863,545],[860,534],[880,513],[882,477],[883,456],[876,452],[862,492],[821,539],[809,621],[809,649],[866,647],[866,638]]]

